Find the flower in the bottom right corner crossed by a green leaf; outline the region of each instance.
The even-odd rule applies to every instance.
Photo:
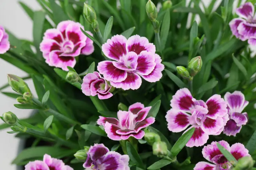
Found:
[[[222,145],[224,148],[228,150],[236,160],[245,157],[251,156],[249,155],[249,151],[245,149],[243,144],[236,143],[233,144],[231,147],[229,146],[228,142],[222,140],[219,142],[212,142],[203,148],[203,156],[205,159],[210,161],[208,162],[198,162],[194,167],[194,170],[230,170],[231,163],[225,158],[225,156],[220,152],[219,148],[217,147],[217,143]]]

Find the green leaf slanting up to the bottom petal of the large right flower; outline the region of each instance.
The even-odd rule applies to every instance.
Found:
[[[177,142],[172,146],[171,153],[172,156],[175,157],[180,153],[181,149],[185,147],[185,145],[188,143],[189,139],[194,134],[195,128],[189,129],[186,133],[184,133]]]

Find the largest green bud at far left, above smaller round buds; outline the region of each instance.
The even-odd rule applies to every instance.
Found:
[[[22,80],[22,78],[15,76],[13,74],[7,75],[8,83],[12,87],[12,89],[23,95],[25,92],[30,92],[28,84]]]

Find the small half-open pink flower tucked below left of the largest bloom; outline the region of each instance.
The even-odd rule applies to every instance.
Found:
[[[99,99],[108,99],[113,96],[109,92],[111,87],[97,71],[94,71],[84,76],[81,89],[86,96],[98,95]]]

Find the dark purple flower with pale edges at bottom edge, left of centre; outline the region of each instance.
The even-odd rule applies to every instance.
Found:
[[[85,170],[130,170],[129,156],[109,151],[104,144],[94,144],[87,152]]]

